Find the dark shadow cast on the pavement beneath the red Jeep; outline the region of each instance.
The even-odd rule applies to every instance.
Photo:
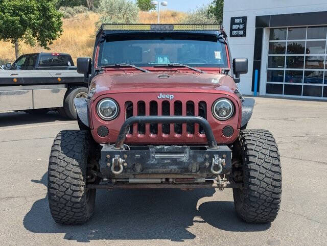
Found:
[[[40,181],[46,185],[46,174]],[[233,202],[204,202],[215,189],[181,191],[98,190],[94,216],[84,225],[64,226],[51,217],[48,197],[36,201],[24,217],[24,227],[35,233],[65,233],[64,238],[78,242],[115,239],[169,239],[184,241],[196,235],[187,229],[196,223],[226,231],[264,231],[270,224],[243,223],[236,215]]]

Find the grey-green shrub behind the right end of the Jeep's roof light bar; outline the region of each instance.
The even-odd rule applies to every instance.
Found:
[[[209,12],[209,6],[203,6],[193,12],[189,12],[185,18],[182,18],[180,23],[187,24],[216,24],[216,16]]]

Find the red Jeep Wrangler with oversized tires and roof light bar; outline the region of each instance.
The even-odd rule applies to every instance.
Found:
[[[269,131],[246,130],[254,100],[236,83],[247,63],[216,25],[103,24],[93,59],[77,60],[90,81],[75,99],[80,130],[52,146],[54,220],[86,222],[99,188],[233,188],[242,219],[272,222],[281,163]]]

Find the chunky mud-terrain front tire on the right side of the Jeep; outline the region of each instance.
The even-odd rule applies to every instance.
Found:
[[[272,222],[282,198],[282,169],[275,139],[266,130],[242,130],[236,145],[244,188],[233,188],[235,209],[247,223]]]

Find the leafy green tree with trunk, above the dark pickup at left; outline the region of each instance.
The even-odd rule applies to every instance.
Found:
[[[16,58],[19,41],[49,49],[62,33],[55,0],[0,0],[0,9],[0,40],[15,44]]]

